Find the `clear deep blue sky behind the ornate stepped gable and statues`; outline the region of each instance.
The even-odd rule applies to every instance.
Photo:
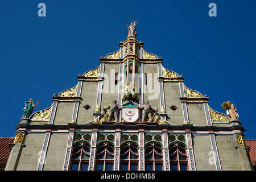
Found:
[[[46,17],[38,4],[46,4]],[[210,17],[209,3],[217,16]],[[184,75],[190,89],[208,94],[225,113],[236,105],[245,139],[256,139],[256,1],[3,1],[0,0],[0,137],[14,137],[24,101],[52,104],[77,75],[119,49],[126,24],[137,20],[144,50],[163,57],[163,67]]]

